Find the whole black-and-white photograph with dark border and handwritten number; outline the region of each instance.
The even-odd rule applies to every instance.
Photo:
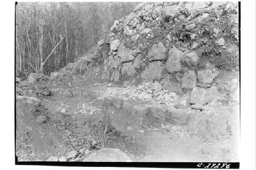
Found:
[[[241,2],[14,6],[15,164],[240,167]]]

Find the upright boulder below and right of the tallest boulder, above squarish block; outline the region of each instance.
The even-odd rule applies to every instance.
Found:
[[[197,76],[193,70],[188,70],[184,73],[181,79],[181,88],[193,89],[196,87]]]

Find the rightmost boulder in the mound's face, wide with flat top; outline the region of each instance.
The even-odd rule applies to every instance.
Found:
[[[201,83],[211,83],[214,78],[218,76],[215,69],[205,69],[197,71],[198,81]]]

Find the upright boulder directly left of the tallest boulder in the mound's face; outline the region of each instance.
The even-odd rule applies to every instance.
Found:
[[[164,45],[162,42],[159,42],[151,48],[150,52],[148,52],[148,60],[163,60],[164,53],[166,52]]]

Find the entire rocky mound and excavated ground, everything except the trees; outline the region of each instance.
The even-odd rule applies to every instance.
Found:
[[[16,80],[18,161],[239,161],[237,28],[232,3],[138,5],[76,62]]]

